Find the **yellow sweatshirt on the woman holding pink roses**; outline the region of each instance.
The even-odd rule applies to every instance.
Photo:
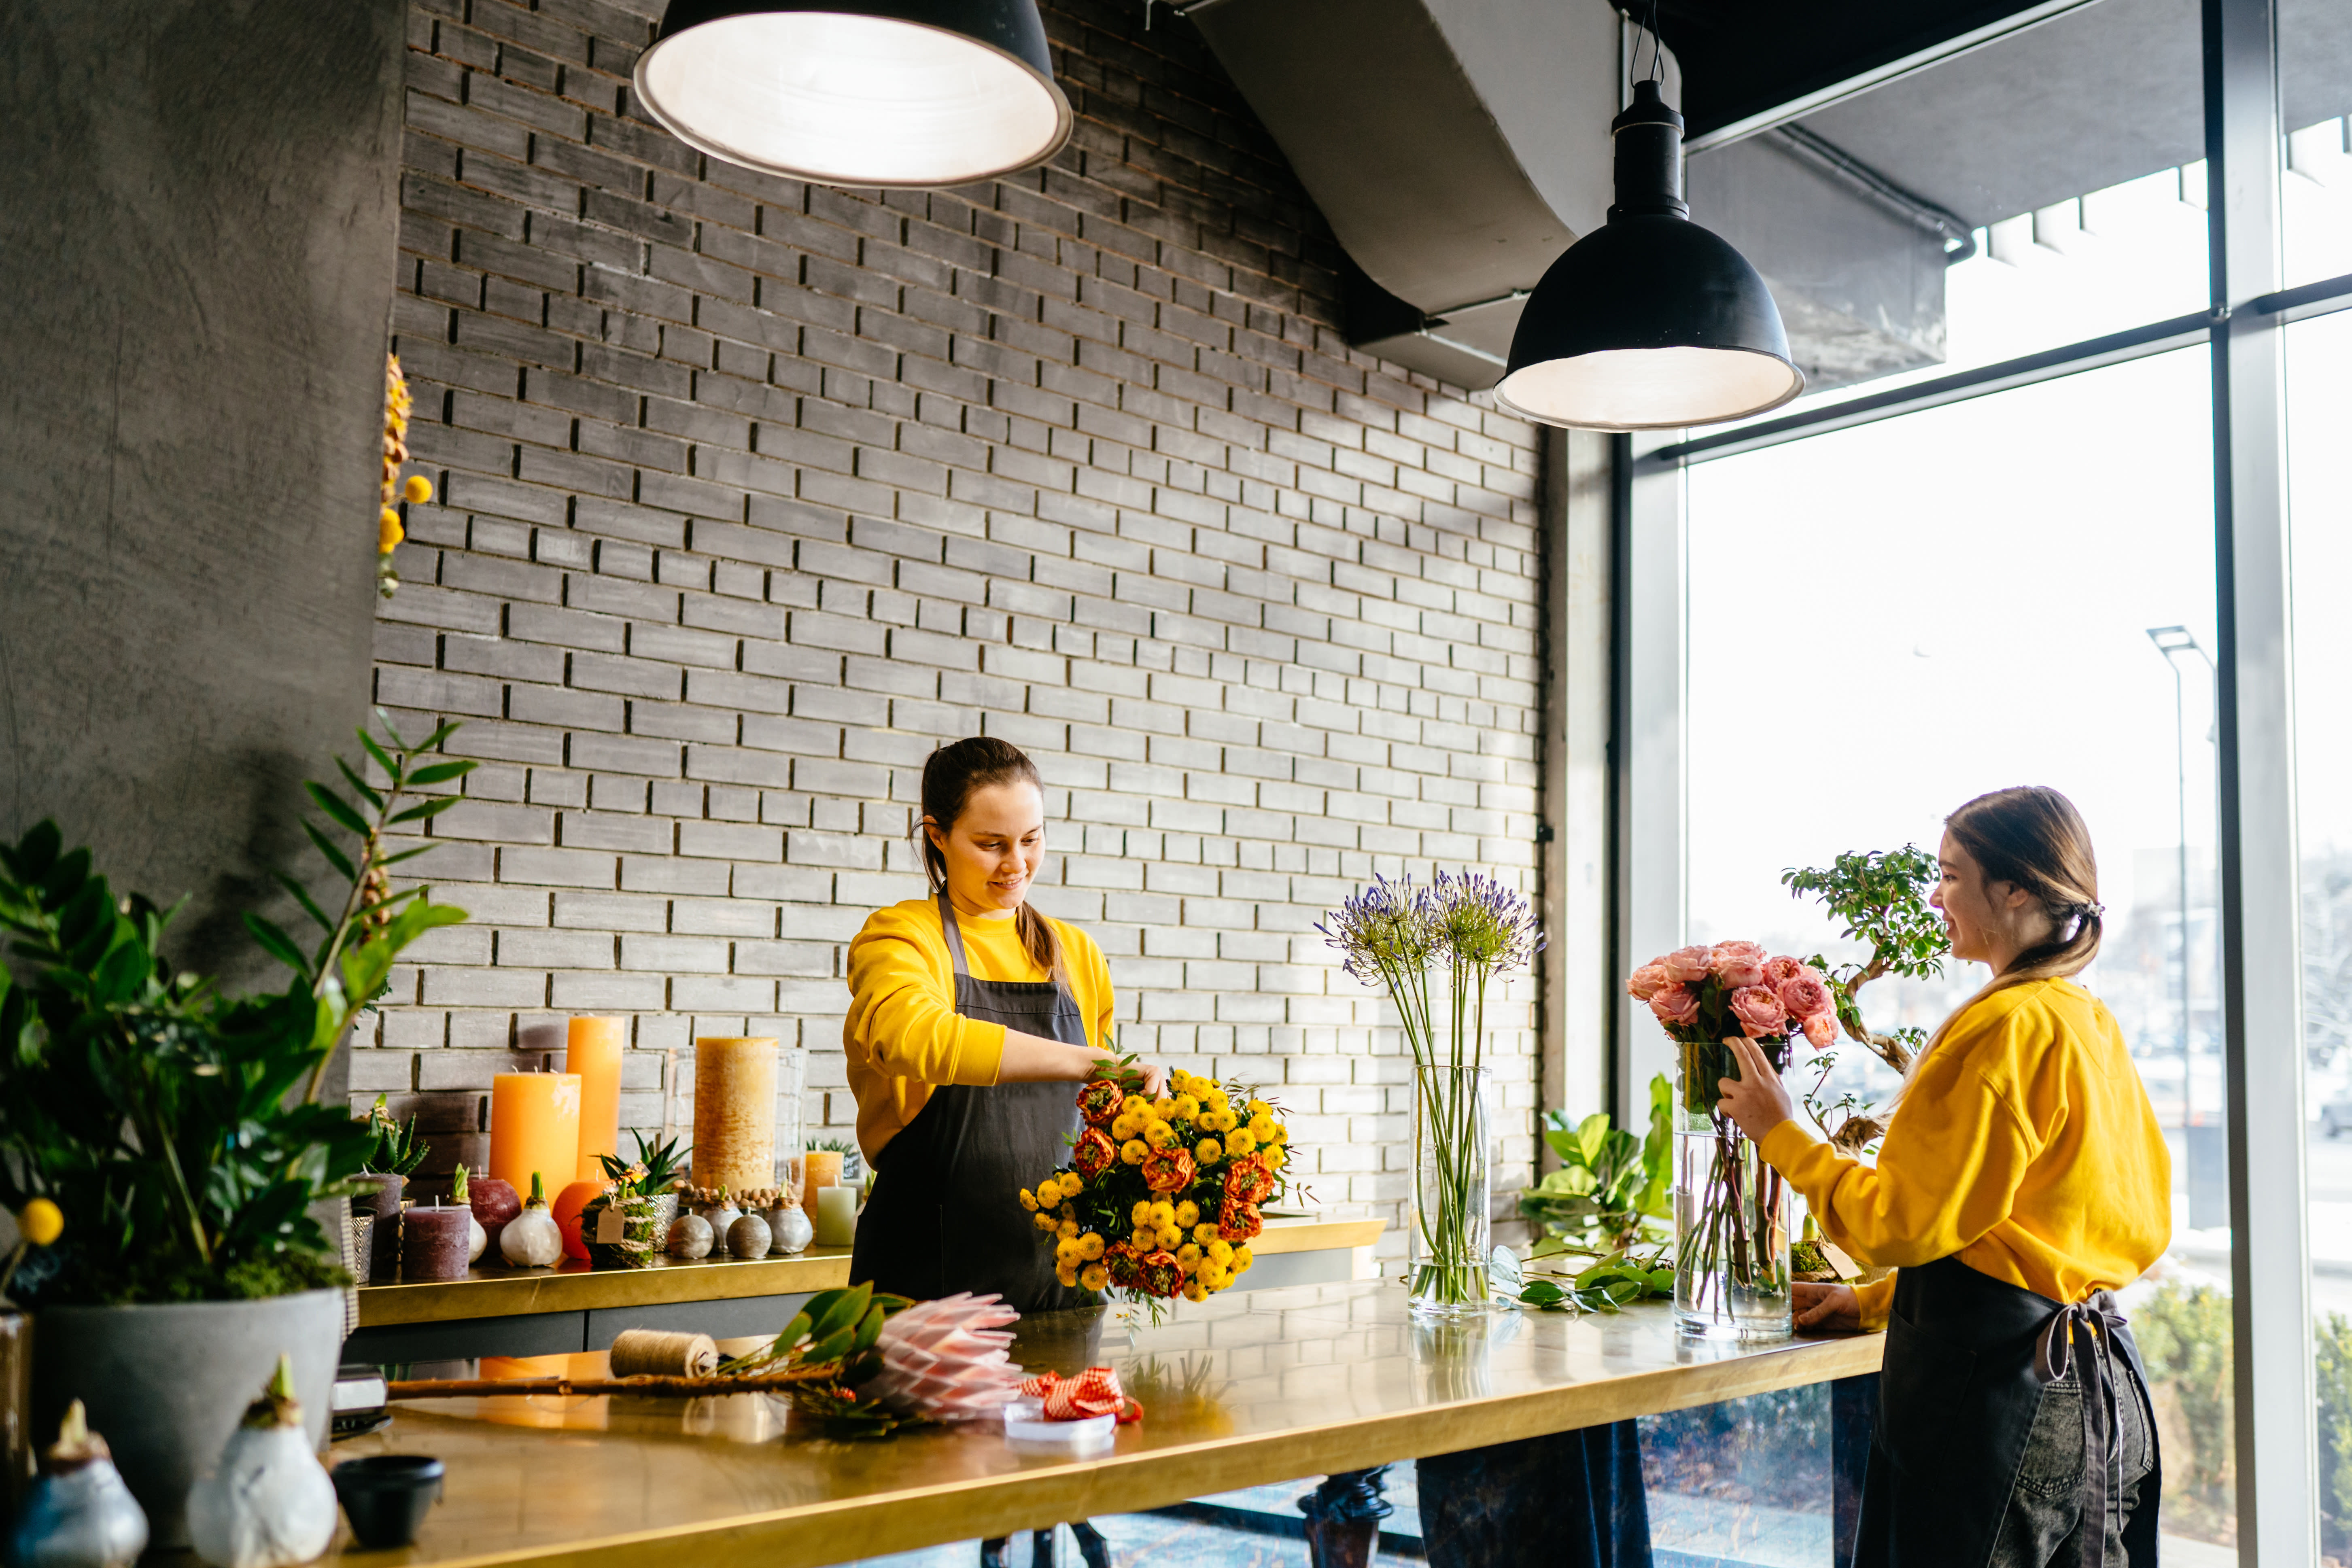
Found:
[[[2060,1302],[2117,1291],[2173,1234],[2171,1154],[2124,1032],[2072,980],[2027,980],[1969,1006],[1912,1074],[1879,1164],[1795,1121],[1766,1161],[1858,1262],[1971,1269]],[[1858,1291],[1886,1324],[1893,1276]]]

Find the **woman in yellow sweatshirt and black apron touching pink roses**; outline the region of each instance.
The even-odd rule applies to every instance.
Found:
[[[2154,1563],[2157,1434],[2114,1307],[2171,1244],[2171,1161],[2098,954],[2091,835],[2056,790],[1945,818],[1952,957],[1992,980],[1929,1039],[1877,1166],[1816,1143],[1750,1041],[1722,1105],[1858,1260],[1797,1286],[1799,1324],[1886,1326],[1856,1566]]]

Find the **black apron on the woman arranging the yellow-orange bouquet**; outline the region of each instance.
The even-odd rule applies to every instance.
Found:
[[[955,961],[957,1016],[1087,1044],[1087,1020],[1061,980],[971,976],[946,891],[938,924]],[[1054,1248],[1018,1197],[1070,1161],[1073,1133],[1077,1084],[934,1084],[915,1119],[875,1154],[875,1194],[858,1215],[849,1279],[915,1300],[995,1293],[1018,1312],[1094,1305],[1054,1279]]]

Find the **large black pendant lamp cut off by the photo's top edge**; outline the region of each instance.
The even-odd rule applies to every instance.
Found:
[[[637,99],[713,158],[826,186],[962,186],[1070,139],[1037,0],[670,0]]]

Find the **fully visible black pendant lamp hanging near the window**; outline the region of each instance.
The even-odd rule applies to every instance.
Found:
[[[1658,82],[1635,82],[1611,132],[1616,205],[1529,294],[1496,402],[1545,425],[1679,430],[1802,393],[1764,280],[1691,223],[1682,115]]]

